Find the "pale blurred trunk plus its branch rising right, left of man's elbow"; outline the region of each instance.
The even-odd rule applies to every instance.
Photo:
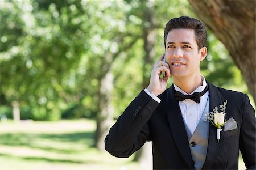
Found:
[[[121,43],[123,37],[126,35],[118,36],[117,42]],[[94,134],[94,146],[100,151],[104,151],[104,139],[109,132],[110,126],[113,121],[113,107],[111,104],[111,96],[113,90],[114,76],[112,74],[112,63],[119,56],[121,52],[131,48],[138,40],[134,36],[133,40],[125,45],[120,45],[122,48],[117,53],[107,52],[102,62],[102,74],[98,77],[100,80],[100,89],[98,91],[98,113],[96,115],[97,128]]]

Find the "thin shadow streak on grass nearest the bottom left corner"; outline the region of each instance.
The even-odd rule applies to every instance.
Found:
[[[31,161],[46,161],[46,162],[52,162],[52,163],[75,163],[75,164],[88,163],[88,162],[84,162],[84,161],[70,160],[70,159],[51,159],[51,158],[30,157],[30,156],[19,156],[19,157],[17,157],[17,156],[10,155],[10,154],[0,154],[0,156],[6,156],[7,158],[31,160]]]

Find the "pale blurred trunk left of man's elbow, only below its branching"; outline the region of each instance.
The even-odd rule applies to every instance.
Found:
[[[113,107],[110,104],[111,95],[113,90],[113,81],[114,76],[109,71],[105,74],[104,78],[100,83],[100,91],[99,91],[99,105],[98,111],[99,114],[96,116],[97,121],[97,129],[95,134],[95,146],[100,150],[105,150],[104,147],[104,139],[108,134],[110,129],[110,125],[112,125],[113,121]]]

